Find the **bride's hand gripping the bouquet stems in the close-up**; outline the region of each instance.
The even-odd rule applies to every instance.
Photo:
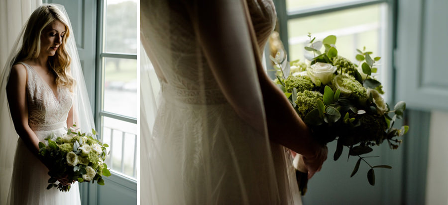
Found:
[[[327,146],[317,146],[315,154],[311,156],[300,156],[300,161],[303,162],[303,166],[308,170],[308,179],[313,177],[313,175],[320,171],[322,164],[327,159],[328,148]]]

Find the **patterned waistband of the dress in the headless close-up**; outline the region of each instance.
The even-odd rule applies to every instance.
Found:
[[[220,89],[182,89],[163,82],[160,85],[162,95],[165,99],[195,105],[222,104],[227,102]]]

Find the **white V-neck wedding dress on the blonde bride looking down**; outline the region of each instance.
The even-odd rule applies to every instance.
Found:
[[[31,66],[27,70],[28,124],[40,141],[52,133],[57,137],[67,133],[67,115],[73,105],[73,94],[58,86],[57,96]],[[48,169],[31,153],[22,139],[17,140],[8,205],[80,205],[78,183],[69,192],[57,188],[47,190]]]

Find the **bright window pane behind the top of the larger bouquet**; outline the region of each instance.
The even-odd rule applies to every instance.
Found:
[[[381,5],[371,5],[320,15],[313,15],[288,21],[288,43],[290,60],[304,60],[307,36],[311,32],[316,40],[336,35],[338,55],[355,62],[356,49],[366,47],[374,56],[381,55],[380,24]]]

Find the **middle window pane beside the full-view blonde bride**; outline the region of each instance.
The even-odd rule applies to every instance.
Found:
[[[137,61],[105,58],[104,111],[137,117]]]

